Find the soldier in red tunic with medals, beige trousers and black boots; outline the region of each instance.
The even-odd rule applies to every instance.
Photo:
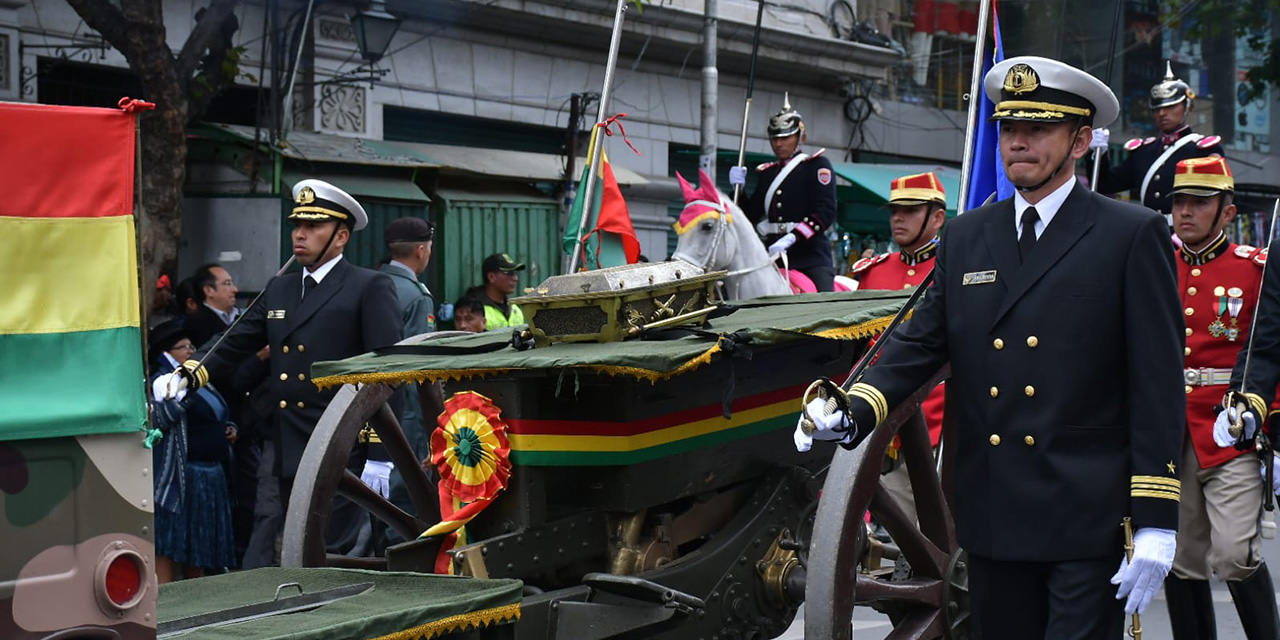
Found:
[[[1178,163],[1174,177],[1178,287],[1187,323],[1187,429],[1174,570],[1165,580],[1175,640],[1216,637],[1210,577],[1230,586],[1245,636],[1275,639],[1276,600],[1262,562],[1262,481],[1252,448],[1220,445],[1213,406],[1222,401],[1245,343],[1266,251],[1226,239],[1234,180],[1222,157]],[[1243,582],[1242,582],[1243,581]],[[1242,586],[1245,585],[1245,586]],[[1253,586],[1261,598],[1240,591]],[[1243,599],[1242,599],[1243,598]],[[1257,602],[1270,602],[1260,607]]]

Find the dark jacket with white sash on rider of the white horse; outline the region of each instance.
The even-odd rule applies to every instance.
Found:
[[[751,224],[764,220],[768,214],[771,223],[797,225],[790,232],[797,237],[796,243],[787,250],[791,269],[831,268],[831,241],[823,236],[836,221],[836,175],[831,169],[831,160],[820,155],[820,151],[803,160],[774,189],[773,201],[765,212],[764,196],[783,165],[785,163],[767,163],[756,166],[759,175],[755,192],[746,204],[746,216]],[[782,236],[783,233],[764,234],[764,244],[769,246]]]

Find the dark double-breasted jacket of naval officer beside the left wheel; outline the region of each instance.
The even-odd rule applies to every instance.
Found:
[[[401,310],[392,279],[343,259],[306,300],[302,274],[273,278],[261,300],[205,364],[211,375],[229,375],[230,367],[270,344],[268,384],[279,428],[276,471],[280,477],[293,477],[311,431],[338,393],[338,387],[316,388],[311,365],[358,356],[394,344],[401,337]]]

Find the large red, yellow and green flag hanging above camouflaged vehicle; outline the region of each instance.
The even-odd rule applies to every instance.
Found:
[[[145,426],[134,125],[0,102],[0,440]]]

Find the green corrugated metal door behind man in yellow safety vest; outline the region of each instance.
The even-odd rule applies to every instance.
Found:
[[[525,264],[516,294],[561,271],[559,206],[525,193],[442,189],[433,195],[439,221],[435,239],[438,301],[453,302],[483,284],[480,264],[509,253]],[[433,291],[435,288],[433,287]]]

